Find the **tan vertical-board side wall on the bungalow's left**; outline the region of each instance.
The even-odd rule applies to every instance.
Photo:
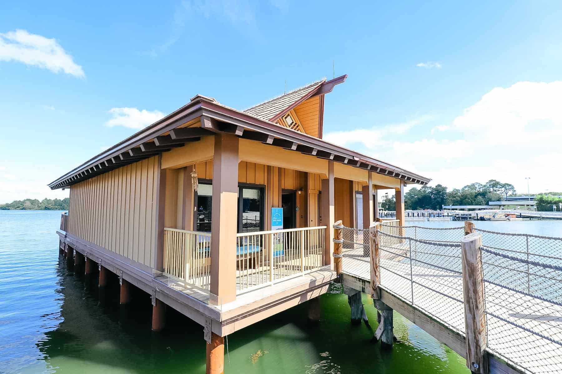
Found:
[[[69,233],[155,267],[158,156],[70,187]]]

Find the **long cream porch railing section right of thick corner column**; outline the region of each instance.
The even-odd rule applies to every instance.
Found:
[[[237,293],[323,266],[325,226],[237,234]]]

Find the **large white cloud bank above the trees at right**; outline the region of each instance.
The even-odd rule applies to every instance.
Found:
[[[366,154],[432,178],[449,189],[498,179],[527,192],[562,192],[562,82],[517,82],[496,87],[450,123],[431,131],[350,130],[328,135],[338,144],[360,144]],[[420,126],[429,126],[422,123]],[[423,130],[420,128],[419,130]],[[448,138],[431,133],[447,132]],[[371,131],[376,142],[365,140]]]

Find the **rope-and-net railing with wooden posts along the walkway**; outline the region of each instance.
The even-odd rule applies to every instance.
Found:
[[[343,228],[342,271],[466,336],[474,372],[486,372],[480,347],[527,372],[562,372],[562,238],[467,230]]]

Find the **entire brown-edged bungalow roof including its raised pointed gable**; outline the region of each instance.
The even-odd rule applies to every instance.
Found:
[[[367,169],[399,178],[405,183],[429,183],[431,179],[419,174],[274,123],[306,99],[329,93],[346,78],[347,75],[329,81],[323,79],[244,111],[227,107],[213,98],[196,95],[183,107],[85,161],[48,186],[52,190],[69,187],[187,142],[200,140],[201,136],[220,132]],[[200,127],[185,127],[198,119]]]

